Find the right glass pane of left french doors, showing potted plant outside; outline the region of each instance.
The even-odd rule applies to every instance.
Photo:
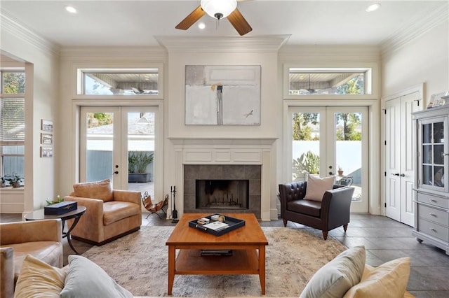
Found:
[[[154,112],[128,112],[128,190],[154,198]],[[158,199],[153,202],[157,203]]]

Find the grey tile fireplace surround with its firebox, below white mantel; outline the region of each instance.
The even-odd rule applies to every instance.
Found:
[[[260,218],[261,166],[185,164],[185,213],[254,213]]]

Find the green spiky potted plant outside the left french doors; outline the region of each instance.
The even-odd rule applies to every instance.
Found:
[[[148,182],[151,180],[147,166],[154,160],[154,153],[128,153],[128,182]]]

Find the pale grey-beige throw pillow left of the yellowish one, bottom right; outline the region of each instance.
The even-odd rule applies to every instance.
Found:
[[[365,269],[365,247],[344,250],[316,271],[300,298],[341,298],[361,281]]]

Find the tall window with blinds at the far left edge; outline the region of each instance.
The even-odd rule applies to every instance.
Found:
[[[0,71],[0,176],[20,177],[24,184],[25,165],[25,72]]]

